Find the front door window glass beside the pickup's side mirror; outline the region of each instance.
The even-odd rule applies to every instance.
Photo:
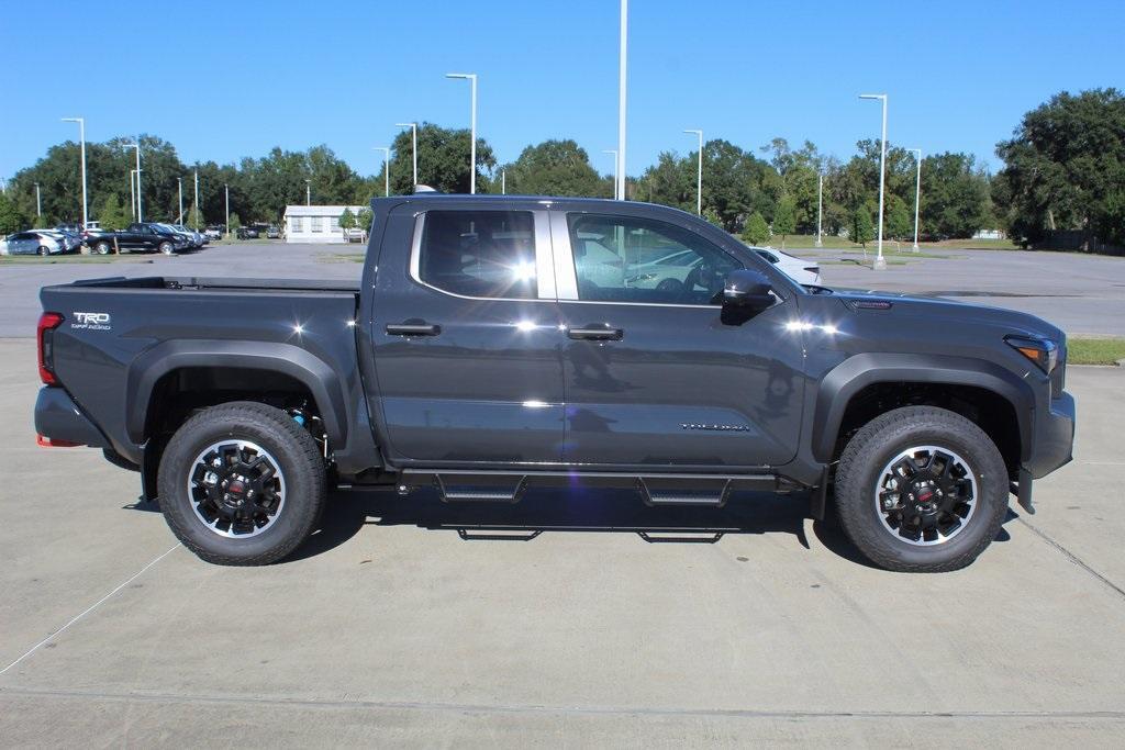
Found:
[[[740,263],[693,232],[664,222],[572,214],[578,298],[709,305]]]

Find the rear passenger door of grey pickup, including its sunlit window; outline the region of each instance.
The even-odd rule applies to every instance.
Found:
[[[557,463],[562,372],[548,215],[393,211],[370,336],[393,458]]]

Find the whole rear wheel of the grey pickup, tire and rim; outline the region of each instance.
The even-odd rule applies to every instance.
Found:
[[[305,541],[324,507],[324,459],[281,409],[233,401],[176,432],[160,461],[160,507],[208,562],[268,564]]]

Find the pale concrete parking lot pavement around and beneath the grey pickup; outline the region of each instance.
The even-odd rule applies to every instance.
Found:
[[[937,576],[865,564],[802,496],[652,509],[606,490],[488,508],[336,493],[294,558],[220,568],[137,503],[136,475],[35,445],[39,286],[356,278],[338,257],[356,252],[0,266],[0,743],[1120,746],[1117,368],[1069,371],[1076,460],[1036,484],[1038,513]],[[875,273],[793,252],[834,261],[829,284],[1125,334],[1123,259],[952,251]]]

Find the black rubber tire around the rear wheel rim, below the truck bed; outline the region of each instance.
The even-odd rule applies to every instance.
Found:
[[[192,509],[188,479],[196,457],[224,440],[261,445],[285,478],[285,504],[262,533],[222,536]],[[254,401],[232,401],[197,413],[176,431],[160,460],[160,507],[176,536],[207,562],[262,566],[296,550],[320,521],[327,495],[324,459],[313,436],[281,409]]]

